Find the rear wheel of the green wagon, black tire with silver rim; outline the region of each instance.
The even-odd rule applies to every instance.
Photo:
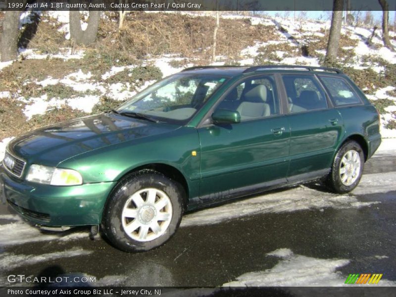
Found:
[[[364,166],[364,153],[355,141],[348,141],[334,158],[327,185],[335,193],[345,194],[359,184]]]

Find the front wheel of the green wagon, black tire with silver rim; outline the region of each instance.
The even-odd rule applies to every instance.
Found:
[[[133,173],[110,194],[103,211],[102,230],[123,251],[159,247],[180,225],[184,195],[179,183],[159,172]]]

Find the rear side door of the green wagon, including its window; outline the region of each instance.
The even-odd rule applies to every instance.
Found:
[[[284,74],[290,123],[288,180],[321,176],[329,170],[344,133],[343,119],[312,74]]]

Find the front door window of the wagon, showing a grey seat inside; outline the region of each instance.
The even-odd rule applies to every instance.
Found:
[[[231,89],[216,109],[236,110],[241,121],[279,114],[279,101],[272,75],[249,78]]]

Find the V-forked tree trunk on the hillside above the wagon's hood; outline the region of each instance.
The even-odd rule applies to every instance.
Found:
[[[71,1],[76,2],[76,1]],[[95,3],[96,1],[93,1]],[[98,33],[101,11],[90,11],[88,26],[84,31],[81,29],[80,11],[71,10],[69,12],[70,39],[76,45],[90,45],[96,40]]]

